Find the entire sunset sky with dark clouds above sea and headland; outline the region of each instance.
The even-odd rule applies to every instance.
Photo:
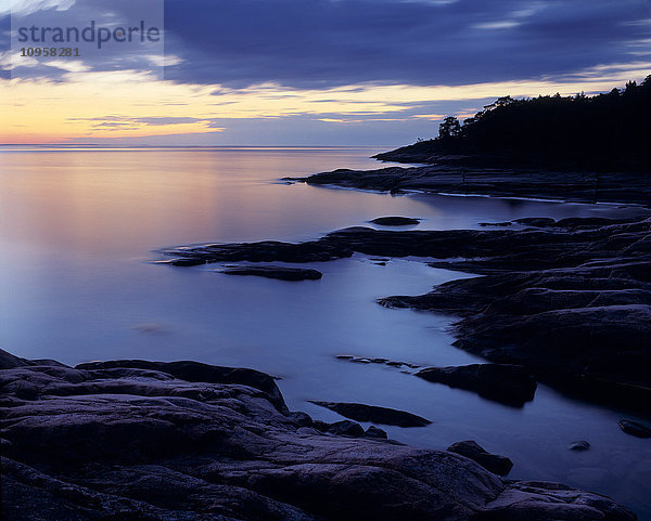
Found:
[[[0,143],[398,146],[650,74],[651,0],[0,0]]]

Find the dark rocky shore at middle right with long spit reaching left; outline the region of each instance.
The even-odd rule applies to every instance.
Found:
[[[378,231],[350,227],[299,244],[175,248],[175,265],[314,262],[366,253],[417,256],[480,273],[393,308],[454,313],[456,346],[598,402],[644,407],[651,398],[651,219],[532,220],[524,230]]]

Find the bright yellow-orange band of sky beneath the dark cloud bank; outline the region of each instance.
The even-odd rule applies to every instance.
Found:
[[[521,80],[465,86],[365,83],[289,89],[273,83],[245,89],[156,80],[135,70],[67,73],[63,81],[0,80],[0,142],[48,144],[120,138],[221,132],[229,119],[307,117],[329,125],[436,120],[434,102],[501,95],[604,92],[643,79],[651,63],[613,64],[571,80]],[[421,114],[412,114],[421,108]],[[410,114],[406,114],[410,110]],[[462,116],[468,116],[463,114]]]

